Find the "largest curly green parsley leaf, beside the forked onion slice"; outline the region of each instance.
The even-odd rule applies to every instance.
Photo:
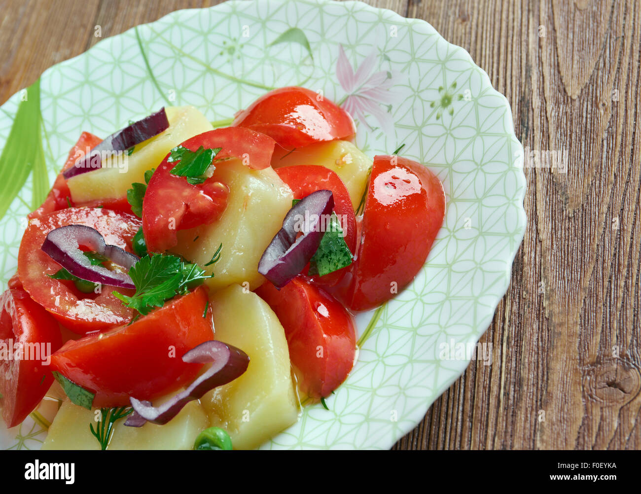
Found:
[[[168,299],[187,293],[190,288],[211,277],[205,275],[204,270],[196,264],[170,254],[144,256],[131,267],[129,276],[136,286],[136,293],[131,297],[119,292],[113,292],[113,295],[142,315],[148,314],[154,307],[162,307]]]

